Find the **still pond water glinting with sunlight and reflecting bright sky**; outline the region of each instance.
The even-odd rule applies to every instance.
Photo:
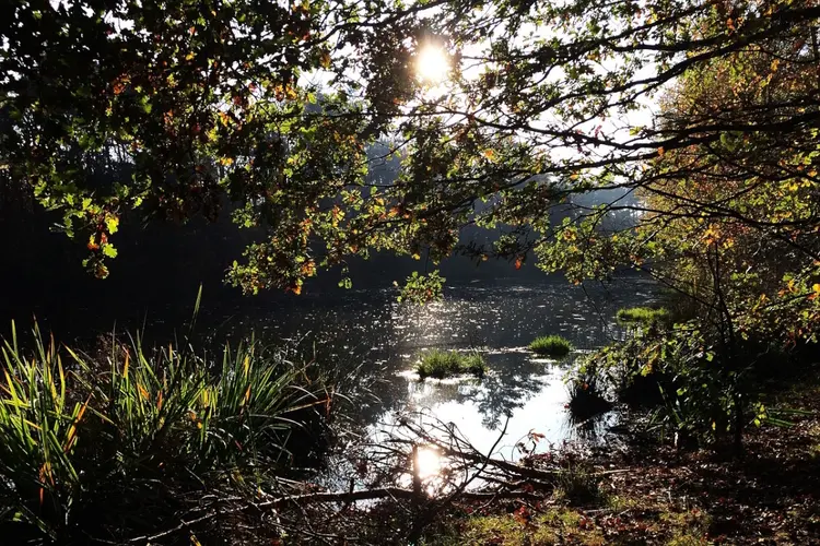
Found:
[[[337,369],[355,369],[345,390],[355,400],[354,420],[372,438],[388,432],[400,413],[423,413],[457,427],[484,453],[506,426],[494,453],[515,459],[515,444],[531,430],[544,435],[544,443],[589,434],[564,407],[566,370],[578,355],[622,335],[618,308],[656,299],[656,287],[640,277],[608,286],[509,280],[447,286],[443,301],[424,307],[397,304],[390,289],[348,290],[304,295],[286,311],[245,307],[220,320],[232,330],[308,346]],[[544,334],[570,339],[576,351],[561,361],[537,358],[526,346]],[[491,371],[482,380],[419,381],[411,370],[431,348],[481,351]],[[606,428],[611,418],[602,416],[593,428]]]

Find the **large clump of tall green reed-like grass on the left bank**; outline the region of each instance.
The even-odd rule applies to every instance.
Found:
[[[119,544],[176,529],[208,502],[256,499],[277,487],[294,416],[326,402],[304,369],[253,342],[224,346],[218,363],[139,339],[103,361],[45,343],[36,327],[33,346],[12,329],[0,348],[4,536]],[[233,522],[247,529],[247,517]],[[197,532],[229,533],[218,521]]]

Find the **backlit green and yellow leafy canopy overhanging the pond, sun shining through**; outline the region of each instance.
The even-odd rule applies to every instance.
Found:
[[[516,264],[536,249],[544,268],[577,277],[640,265],[648,241],[596,229],[618,203],[547,221],[593,189],[665,198],[647,225],[731,219],[805,247],[789,229],[815,222],[805,201],[771,199],[775,186],[811,193],[816,181],[811,2],[5,10],[4,176],[63,213],[101,276],[127,211],[185,219],[227,201],[239,225],[268,230],[230,272],[246,292],[298,292],[317,268],[368,249]],[[425,48],[447,57],[445,81],[418,78]],[[395,181],[367,177],[375,139],[403,157]],[[703,179],[737,189],[691,191]],[[760,219],[743,199],[727,202],[747,187],[788,214]],[[492,248],[459,246],[470,224],[512,228]]]

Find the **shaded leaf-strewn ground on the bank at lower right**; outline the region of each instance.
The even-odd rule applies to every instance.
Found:
[[[633,437],[587,453],[595,495],[460,502],[426,544],[820,544],[820,387],[771,404],[805,413],[750,429],[741,458]]]

